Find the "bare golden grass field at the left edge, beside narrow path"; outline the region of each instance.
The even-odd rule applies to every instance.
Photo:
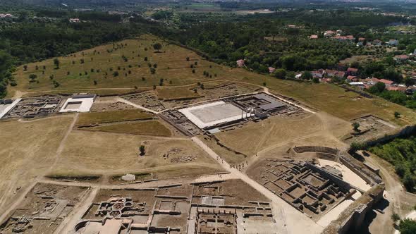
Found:
[[[54,164],[56,150],[71,121],[72,115],[0,122],[0,211],[11,204],[11,197],[23,192]]]

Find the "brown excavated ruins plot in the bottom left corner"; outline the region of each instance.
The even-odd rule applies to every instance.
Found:
[[[54,233],[90,190],[38,183],[0,226],[0,233]]]

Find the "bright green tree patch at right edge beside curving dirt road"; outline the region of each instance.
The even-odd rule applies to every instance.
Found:
[[[387,144],[371,147],[369,151],[393,164],[406,189],[415,192],[416,137],[396,138]]]

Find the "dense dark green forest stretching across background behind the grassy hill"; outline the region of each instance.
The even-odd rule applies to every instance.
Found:
[[[7,85],[16,84],[11,76],[13,67],[141,33],[152,33],[180,42],[228,66],[235,66],[236,60],[244,58],[247,68],[259,73],[268,73],[268,67],[272,66],[287,70],[286,74],[293,76],[295,71],[333,68],[338,61],[353,55],[384,54],[381,49],[368,51],[353,43],[331,39],[310,40],[307,36],[322,30],[342,29],[356,37],[370,38],[374,36],[367,33],[370,28],[382,29],[389,23],[405,20],[368,11],[310,11],[299,8],[252,15],[223,12],[221,17],[217,17],[220,13],[155,11],[152,14],[156,19],[154,21],[138,14],[144,11],[143,8],[137,13],[114,14],[37,7],[36,4],[26,6],[14,1],[9,4],[10,11],[17,17],[14,23],[0,22],[0,51],[5,61],[0,76],[0,97],[6,94]],[[110,1],[108,6],[113,7],[111,4],[114,2]],[[173,4],[173,9],[187,6],[186,2],[181,4]],[[133,8],[135,6],[132,5]],[[82,23],[69,23],[69,18],[80,18]],[[202,20],[204,18],[207,20]],[[290,24],[297,27],[290,28]]]

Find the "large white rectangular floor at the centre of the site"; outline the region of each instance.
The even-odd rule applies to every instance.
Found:
[[[215,101],[200,106],[191,106],[179,110],[198,128],[206,128],[219,123],[227,123],[252,116],[233,104]]]

